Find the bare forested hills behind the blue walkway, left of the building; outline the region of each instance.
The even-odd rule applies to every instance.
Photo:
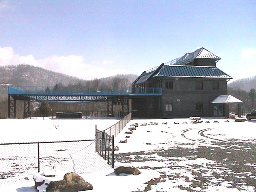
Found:
[[[130,87],[137,75],[125,74],[102,79],[83,80],[63,73],[56,73],[27,64],[0,67],[0,101],[7,98],[10,86],[87,86],[87,87]]]

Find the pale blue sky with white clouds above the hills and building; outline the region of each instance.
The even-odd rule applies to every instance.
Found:
[[[81,79],[137,74],[204,47],[256,75],[256,0],[0,0],[0,66]]]

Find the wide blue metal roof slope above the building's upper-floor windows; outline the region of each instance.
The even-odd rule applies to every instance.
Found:
[[[217,67],[164,65],[154,77],[203,77],[232,79]]]

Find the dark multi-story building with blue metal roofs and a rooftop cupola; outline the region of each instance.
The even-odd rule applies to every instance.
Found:
[[[227,95],[227,81],[232,77],[216,67],[220,59],[207,49],[200,48],[144,71],[132,87],[141,90],[160,87],[162,96],[132,99],[132,110],[140,111],[140,114],[133,113],[134,117],[227,117],[227,97],[232,97]]]

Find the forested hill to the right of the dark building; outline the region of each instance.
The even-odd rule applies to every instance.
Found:
[[[230,88],[239,88],[241,90],[250,91],[250,89],[256,89],[256,76],[239,79],[227,84]]]

